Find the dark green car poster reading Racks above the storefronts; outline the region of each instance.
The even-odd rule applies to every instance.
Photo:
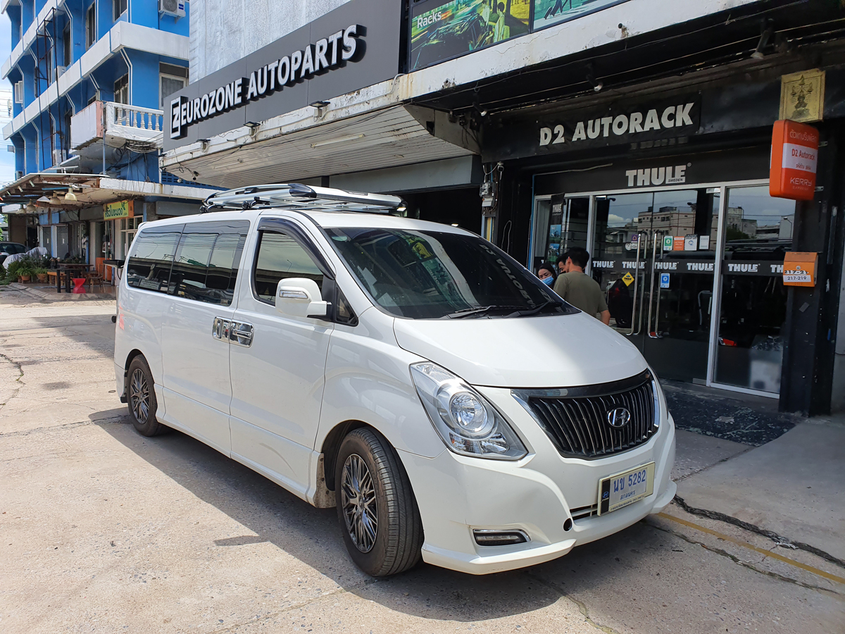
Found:
[[[529,32],[531,2],[423,0],[416,3],[412,9],[409,69],[425,68],[525,35]]]

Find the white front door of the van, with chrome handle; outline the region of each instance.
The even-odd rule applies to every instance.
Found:
[[[275,309],[281,279],[308,277],[323,291],[328,265],[290,221],[264,219],[250,284],[232,337],[232,457],[305,497],[323,401],[332,324]]]

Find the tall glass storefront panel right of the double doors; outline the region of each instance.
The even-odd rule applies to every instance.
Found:
[[[717,383],[780,391],[787,314],[782,266],[792,250],[794,219],[795,201],[771,198],[768,186],[728,189]]]

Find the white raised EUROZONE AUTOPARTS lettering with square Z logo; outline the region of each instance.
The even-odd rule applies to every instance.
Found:
[[[192,123],[242,107],[248,101],[257,101],[316,74],[341,68],[347,61],[357,61],[363,57],[364,50],[358,46],[358,38],[365,31],[361,25],[349,25],[308,44],[304,50],[255,68],[249,77],[238,77],[194,99],[178,96],[170,102],[170,138],[183,138]]]

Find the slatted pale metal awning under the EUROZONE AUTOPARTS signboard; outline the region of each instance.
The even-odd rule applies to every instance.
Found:
[[[222,151],[165,156],[162,167],[232,189],[472,155],[433,135],[435,123],[445,124],[440,115],[435,122],[428,108],[390,107]]]

